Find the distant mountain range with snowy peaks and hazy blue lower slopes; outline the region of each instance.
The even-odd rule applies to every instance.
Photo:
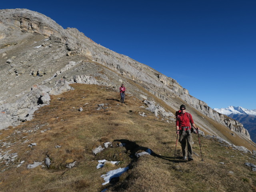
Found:
[[[256,143],[256,109],[229,106],[228,108],[214,108],[214,110],[242,123],[248,130],[252,141]]]

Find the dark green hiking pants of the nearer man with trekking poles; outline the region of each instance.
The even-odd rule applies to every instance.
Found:
[[[182,130],[180,131],[181,132],[180,132],[179,142],[181,144],[182,154],[183,156],[192,157],[192,144],[194,142],[191,135],[191,131],[190,130],[187,130],[185,132],[183,132]]]

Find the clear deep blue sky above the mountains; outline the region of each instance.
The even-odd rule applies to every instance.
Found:
[[[256,109],[255,0],[6,1],[174,78],[211,108]]]

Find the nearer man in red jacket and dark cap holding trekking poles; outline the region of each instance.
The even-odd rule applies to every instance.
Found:
[[[194,120],[192,119],[191,114],[186,112],[186,106],[181,105],[178,114],[176,114],[176,130],[177,134],[180,135],[179,142],[182,148],[183,160],[187,159],[188,161],[193,160],[192,158],[192,144],[193,138],[191,134],[191,126],[198,130],[199,128],[196,127],[194,124]],[[186,146],[187,143],[187,146]]]

